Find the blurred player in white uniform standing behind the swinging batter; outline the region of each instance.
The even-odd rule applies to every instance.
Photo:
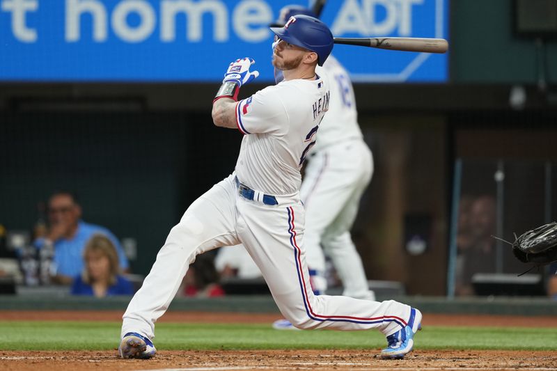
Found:
[[[295,15],[315,17],[308,8],[289,5],[281,9],[272,26],[281,26]],[[318,140],[308,151],[300,188],[306,211],[304,246],[311,287],[315,294],[326,292],[327,255],[343,282],[343,295],[375,300],[350,235],[359,201],[372,177],[372,154],[358,125],[354,90],[346,70],[329,56],[316,71],[329,77],[331,104],[319,125]],[[275,70],[275,79],[282,79],[281,70]],[[279,319],[273,327],[292,329],[292,324]]]

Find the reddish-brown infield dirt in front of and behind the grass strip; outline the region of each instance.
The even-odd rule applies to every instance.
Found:
[[[119,321],[122,313],[3,311],[4,320]],[[166,313],[160,322],[271,323],[275,314]],[[424,326],[532,326],[534,318],[490,315],[424,316]],[[535,317],[536,326],[557,327],[557,318]],[[380,349],[162,351],[150,360],[123,360],[109,351],[1,351],[0,370],[556,370],[552,351],[421,350],[404,360],[377,358]]]

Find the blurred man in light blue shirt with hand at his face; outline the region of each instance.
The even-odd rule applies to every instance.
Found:
[[[106,235],[116,246],[120,267],[129,270],[129,264],[118,239],[107,229],[80,220],[81,207],[75,196],[67,191],[53,194],[48,203],[49,228],[44,237],[33,242],[34,246],[52,250],[54,248],[52,281],[69,285],[84,269],[84,248],[91,236]]]

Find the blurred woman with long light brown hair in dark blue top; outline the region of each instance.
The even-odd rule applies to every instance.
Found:
[[[132,283],[120,275],[118,253],[107,236],[91,237],[85,247],[83,258],[85,269],[80,276],[74,278],[73,295],[107,297],[134,294]]]

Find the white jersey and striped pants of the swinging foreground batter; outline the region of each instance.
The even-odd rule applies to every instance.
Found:
[[[122,336],[153,338],[155,322],[196,255],[236,244],[256,262],[281,313],[301,329],[373,328],[389,336],[411,322],[411,308],[397,301],[317,297],[311,291],[299,167],[328,105],[324,78],[284,81],[236,104],[237,125],[246,134],[236,171],[195,200],[168,233],[123,315]],[[251,192],[244,193],[244,186]],[[253,196],[256,190],[276,203]]]

